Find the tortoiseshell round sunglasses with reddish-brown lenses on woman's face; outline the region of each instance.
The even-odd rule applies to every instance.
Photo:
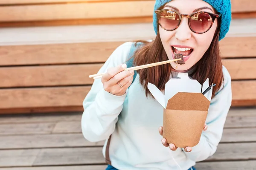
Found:
[[[166,31],[173,31],[180,25],[182,17],[188,18],[189,28],[197,34],[203,34],[212,27],[214,20],[221,17],[221,14],[210,12],[195,12],[191,15],[180,14],[172,9],[156,10],[158,23]]]

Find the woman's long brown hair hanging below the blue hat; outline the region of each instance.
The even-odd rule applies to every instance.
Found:
[[[219,23],[215,31],[215,36],[205,52],[204,56],[194,65],[195,71],[192,73],[192,78],[203,84],[209,78],[209,84],[216,84],[212,89],[212,98],[215,93],[221,88],[224,81],[222,73],[222,62],[219,49]],[[152,42],[143,42],[143,46],[134,53],[134,65],[144,65],[153,62],[168,60],[166,51],[160,39],[159,31],[156,38]],[[148,82],[157,86],[159,90],[164,90],[166,82],[169,81],[172,66],[170,64],[159,65],[156,67],[138,70],[140,75],[140,83],[143,85],[146,96],[152,94],[147,88]]]

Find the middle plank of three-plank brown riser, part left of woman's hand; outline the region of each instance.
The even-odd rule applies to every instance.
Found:
[[[0,68],[2,87],[32,87],[61,85],[91,85],[90,74],[96,74],[102,64],[51,65]]]

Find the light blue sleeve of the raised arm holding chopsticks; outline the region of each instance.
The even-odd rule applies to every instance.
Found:
[[[98,73],[104,73],[108,68],[125,63],[131,45],[132,42],[125,42],[116,48]],[[127,91],[122,96],[116,96],[104,90],[101,79],[94,80],[83,101],[81,129],[85,139],[90,142],[108,139],[115,129]]]

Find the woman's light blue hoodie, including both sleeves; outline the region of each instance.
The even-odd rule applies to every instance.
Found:
[[[125,63],[131,45],[132,42],[126,42],[116,48],[99,73]],[[187,170],[196,161],[213,155],[221,140],[232,101],[231,78],[224,66],[223,74],[224,84],[209,106],[208,129],[202,132],[200,142],[190,153],[163,146],[163,137],[158,133],[163,126],[163,107],[145,96],[139,75],[123,96],[106,92],[100,79],[93,82],[83,102],[82,133],[90,142],[106,140],[112,134],[109,154],[112,166],[119,170],[179,170],[175,161],[182,170]]]

